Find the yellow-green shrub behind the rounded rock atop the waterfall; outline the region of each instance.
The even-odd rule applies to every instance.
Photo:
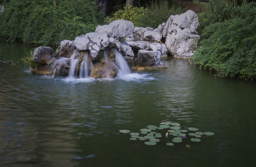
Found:
[[[111,18],[107,17],[105,22],[109,24],[114,20],[124,19],[133,22],[133,24],[136,26],[144,12],[144,7],[125,6],[123,9],[119,9],[116,13],[114,13]]]

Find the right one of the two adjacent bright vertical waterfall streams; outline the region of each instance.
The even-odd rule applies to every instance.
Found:
[[[79,71],[79,78],[90,77],[91,67],[93,67],[93,65],[90,61],[90,56],[88,54],[88,51],[84,51],[83,52],[83,61],[81,63],[80,71]]]

